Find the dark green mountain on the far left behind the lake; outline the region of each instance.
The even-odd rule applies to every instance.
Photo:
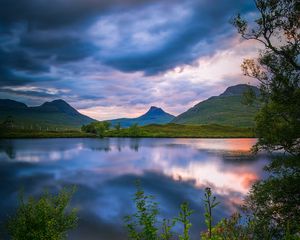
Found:
[[[45,102],[37,107],[10,99],[0,99],[0,122],[11,116],[14,125],[29,129],[65,129],[80,128],[96,120],[79,113],[67,102],[58,99]]]

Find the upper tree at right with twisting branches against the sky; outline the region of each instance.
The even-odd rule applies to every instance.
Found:
[[[233,24],[247,40],[264,46],[259,57],[245,59],[245,75],[260,82],[264,106],[256,117],[255,150],[283,149],[300,154],[300,3],[298,0],[255,0],[259,16],[250,28],[237,15]],[[252,26],[252,25],[251,25]]]

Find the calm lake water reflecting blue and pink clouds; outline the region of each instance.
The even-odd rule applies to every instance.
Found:
[[[251,155],[255,139],[24,139],[0,140],[0,221],[17,206],[18,191],[38,196],[76,185],[72,206],[79,227],[69,239],[126,239],[123,217],[133,212],[135,180],[156,196],[161,215],[182,202],[196,210],[193,239],[204,228],[203,189],[221,204],[215,220],[238,210],[251,184],[264,177],[267,155]],[[0,237],[1,238],[1,237]]]

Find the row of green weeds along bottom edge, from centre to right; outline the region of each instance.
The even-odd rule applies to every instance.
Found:
[[[216,197],[213,196],[210,188],[205,189],[204,195],[205,203],[205,222],[208,230],[201,233],[202,240],[256,240],[256,239],[268,239],[261,238],[261,235],[257,234],[254,229],[256,227],[253,219],[248,219],[245,222],[239,213],[233,214],[228,219],[222,219],[215,226],[212,226],[212,211],[219,204],[216,201]],[[190,210],[187,202],[184,202],[180,206],[180,212],[173,220],[164,219],[161,227],[158,221],[158,207],[157,203],[153,201],[153,196],[145,195],[139,182],[137,184],[137,191],[134,197],[137,212],[132,216],[126,216],[126,227],[129,233],[129,239],[180,239],[189,240],[190,229],[192,224],[189,217],[194,213]],[[177,224],[183,226],[183,233],[174,233],[172,229]],[[257,225],[258,226],[258,225]],[[159,233],[160,230],[160,234]],[[294,240],[295,235],[291,231],[285,232],[285,239]]]

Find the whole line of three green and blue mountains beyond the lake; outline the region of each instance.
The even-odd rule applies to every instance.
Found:
[[[163,109],[151,106],[149,110],[137,118],[118,118],[108,120],[112,126],[120,123],[122,128],[133,124],[145,126],[149,124],[220,124],[235,127],[253,127],[254,117],[260,108],[257,102],[253,106],[242,104],[243,93],[251,89],[256,95],[259,89],[239,84],[228,87],[219,96],[210,97],[199,102],[194,107],[177,117],[165,112]],[[79,113],[62,99],[45,102],[40,106],[28,107],[26,104],[10,100],[0,99],[0,122],[8,116],[12,116],[14,123],[23,128],[65,129],[80,128],[97,120]]]

